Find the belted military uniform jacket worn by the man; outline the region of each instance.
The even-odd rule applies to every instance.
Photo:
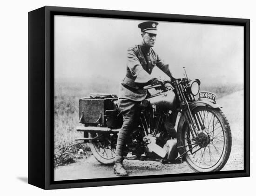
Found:
[[[121,82],[118,98],[142,101],[147,96],[147,90],[136,83],[147,83],[152,79],[150,74],[154,67],[171,76],[169,65],[164,64],[152,48],[147,49],[143,44],[135,45],[127,51],[126,76]]]

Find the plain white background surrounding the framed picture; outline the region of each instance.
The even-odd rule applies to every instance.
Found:
[[[253,195],[255,192],[255,125],[251,123],[251,177],[173,183],[136,184],[44,191],[27,181],[27,12],[41,6],[70,6],[138,12],[173,13],[251,19],[251,122],[256,110],[254,85],[256,13],[252,0],[27,0],[3,1],[1,48],[1,195]]]

